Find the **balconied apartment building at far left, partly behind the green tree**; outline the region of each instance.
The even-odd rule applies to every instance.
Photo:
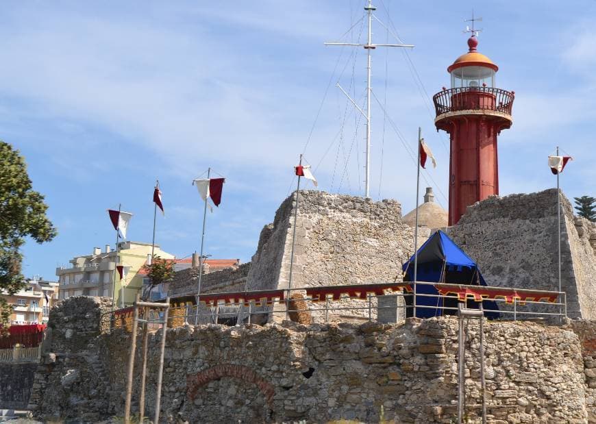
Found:
[[[34,277],[27,279],[27,285],[14,295],[0,290],[0,296],[12,305],[11,324],[45,324],[58,301],[58,283]]]

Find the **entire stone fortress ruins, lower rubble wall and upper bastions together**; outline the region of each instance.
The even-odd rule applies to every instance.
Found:
[[[414,228],[403,222],[397,201],[301,191],[299,205],[295,288],[401,281]],[[251,262],[204,275],[201,292],[288,288],[295,207],[288,197],[262,229]],[[489,423],[596,422],[596,323],[586,321],[596,318],[596,227],[575,218],[567,199],[563,210],[562,290],[574,320],[484,324]],[[556,215],[555,190],[491,197],[445,231],[477,260],[489,285],[557,290]],[[421,228],[419,245],[430,234]],[[180,271],[171,284],[173,296],[194,295],[196,288],[197,269]],[[356,308],[362,301],[349,302]],[[123,414],[130,326],[110,329],[110,308],[107,299],[73,297],[51,312],[51,340],[29,399],[37,416],[93,422]],[[312,323],[301,325],[263,316],[262,325],[236,327],[188,325],[172,316],[162,419],[455,422],[456,318],[383,324],[375,310],[372,321],[351,312],[325,323],[312,314]],[[477,328],[467,323],[471,423],[480,422]],[[149,340],[147,408],[155,399],[160,337],[153,332]],[[134,375],[136,387],[138,369]]]

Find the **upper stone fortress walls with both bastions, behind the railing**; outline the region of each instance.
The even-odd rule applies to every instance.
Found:
[[[280,205],[273,223],[262,229],[252,261],[236,270],[204,275],[201,291],[287,288],[294,214],[295,193]],[[596,292],[596,225],[574,217],[564,196],[561,219],[567,312],[573,318],[596,319],[596,297],[591,295]],[[556,223],[556,190],[545,190],[478,202],[445,232],[478,262],[488,285],[557,290]],[[430,229],[421,228],[419,233],[422,245]],[[397,201],[301,190],[293,287],[400,281],[401,264],[414,252],[413,239],[414,229],[403,223]],[[173,292],[196,292],[197,275],[197,269],[177,273]],[[362,307],[366,302],[349,303]],[[525,310],[556,308],[530,305]]]

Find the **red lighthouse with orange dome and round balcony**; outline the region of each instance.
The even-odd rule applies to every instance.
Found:
[[[514,92],[495,87],[499,69],[476,51],[469,51],[447,68],[451,88],[433,97],[437,130],[449,133],[449,225],[456,224],[468,205],[499,194],[497,136],[511,127]]]

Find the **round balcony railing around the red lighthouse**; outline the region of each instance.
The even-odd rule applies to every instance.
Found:
[[[494,87],[464,87],[442,90],[432,97],[436,116],[461,110],[492,110],[511,114],[515,92]]]

